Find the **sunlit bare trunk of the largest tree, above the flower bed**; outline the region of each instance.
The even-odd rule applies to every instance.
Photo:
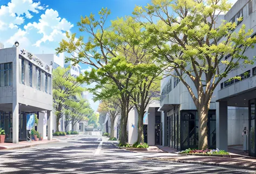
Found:
[[[198,129],[198,149],[205,150],[208,148],[208,111],[210,108],[206,105],[201,105],[198,108],[199,114],[199,129]]]

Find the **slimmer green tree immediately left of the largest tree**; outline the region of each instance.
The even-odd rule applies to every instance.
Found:
[[[131,98],[138,112],[138,143],[144,143],[143,117],[145,110],[152,102],[159,101],[160,96],[160,79],[164,67],[151,61],[152,59],[149,57],[146,62],[140,63],[137,67],[139,70],[134,71],[132,78],[136,86],[131,93]]]

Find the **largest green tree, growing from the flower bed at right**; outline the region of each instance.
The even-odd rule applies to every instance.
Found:
[[[145,47],[177,74],[197,107],[199,149],[208,148],[208,110],[216,86],[232,70],[254,63],[244,53],[254,47],[256,38],[245,25],[237,28],[242,18],[234,23],[217,20],[230,8],[227,0],[152,0],[133,12],[149,33]],[[226,55],[230,58],[225,60]]]

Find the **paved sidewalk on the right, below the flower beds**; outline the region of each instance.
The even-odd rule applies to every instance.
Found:
[[[228,166],[230,168],[255,170],[256,173],[256,158],[253,157],[233,153],[230,153],[231,157],[178,155],[177,150],[172,150],[172,148],[167,149],[161,146],[158,146],[158,148],[164,151],[173,152],[169,153],[170,156],[149,157],[147,159],[190,164]]]

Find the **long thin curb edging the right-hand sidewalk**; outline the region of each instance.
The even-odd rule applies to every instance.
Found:
[[[174,159],[174,160],[170,160],[170,161],[165,161],[165,160],[161,160],[161,159],[150,159],[150,158],[147,158],[147,159],[149,159],[151,161],[158,161],[158,162],[161,161],[161,162],[166,162],[166,163],[174,162],[174,163],[186,163],[186,164],[201,164],[201,165],[211,165],[211,166],[213,165],[213,166],[252,170],[252,171],[256,170],[256,168],[250,168],[250,167],[246,167],[246,166],[229,165],[229,164],[205,163],[205,162],[198,162],[198,161],[183,161],[183,160],[179,160],[179,159]]]

